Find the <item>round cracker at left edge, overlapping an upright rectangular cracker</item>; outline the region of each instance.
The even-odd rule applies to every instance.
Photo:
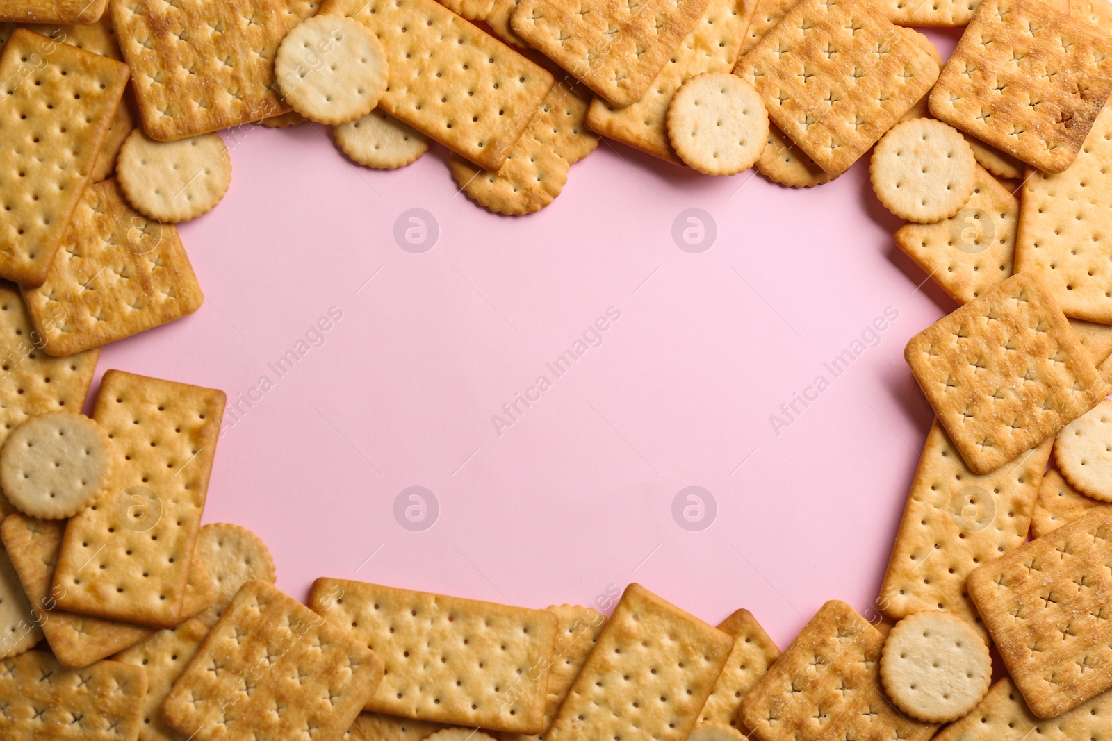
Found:
[[[110,444],[103,428],[83,414],[32,417],[0,449],[0,487],[24,514],[73,517],[103,491],[112,467]]]

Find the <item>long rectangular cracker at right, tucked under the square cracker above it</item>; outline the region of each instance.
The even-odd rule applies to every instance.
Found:
[[[944,610],[987,637],[965,580],[980,564],[1026,541],[1053,444],[1048,438],[992,473],[977,475],[935,420],[884,572],[881,611],[898,620]]]

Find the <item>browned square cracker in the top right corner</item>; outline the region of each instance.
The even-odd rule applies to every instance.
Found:
[[[1061,172],[1110,90],[1112,38],[1042,0],[983,0],[931,91],[931,113]]]

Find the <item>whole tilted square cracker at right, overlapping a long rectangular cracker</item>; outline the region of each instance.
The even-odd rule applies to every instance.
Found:
[[[989,473],[1108,393],[1039,273],[1021,272],[914,336],[904,358],[970,470]]]

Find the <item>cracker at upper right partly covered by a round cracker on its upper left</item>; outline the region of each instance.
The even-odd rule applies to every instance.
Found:
[[[1020,202],[981,167],[973,193],[954,216],[907,223],[896,246],[954,301],[965,303],[1012,276]]]

